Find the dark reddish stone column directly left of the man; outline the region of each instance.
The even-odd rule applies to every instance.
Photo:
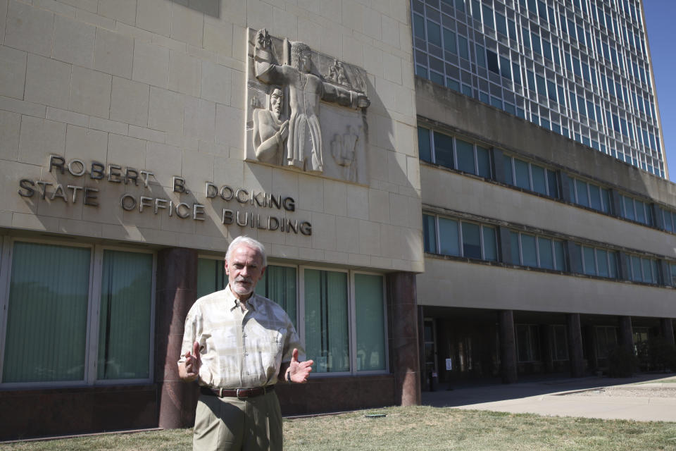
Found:
[[[155,382],[158,385],[158,426],[184,428],[194,424],[198,388],[178,377],[185,316],[197,297],[197,252],[170,247],[157,255],[155,302]]]

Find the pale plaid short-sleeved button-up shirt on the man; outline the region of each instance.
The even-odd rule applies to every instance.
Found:
[[[200,385],[238,388],[277,382],[282,362],[290,362],[301,343],[287,313],[275,302],[255,293],[246,300],[246,311],[225,290],[197,299],[185,319],[182,363],[199,343]]]

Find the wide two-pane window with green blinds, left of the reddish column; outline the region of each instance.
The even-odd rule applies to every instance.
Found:
[[[148,253],[13,242],[2,383],[149,381],[153,262]]]

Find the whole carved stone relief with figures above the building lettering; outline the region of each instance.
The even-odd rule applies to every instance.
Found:
[[[280,47],[279,41],[280,39],[275,41],[277,48]],[[331,117],[326,122],[331,124],[325,125],[320,121],[320,101],[327,103],[323,109],[336,105],[356,112],[363,111],[370,105],[364,92],[365,77],[353,76],[356,82],[351,82],[342,62],[321,54],[318,54],[321,58],[320,64],[328,69],[328,75],[319,75],[310,47],[303,42],[289,42],[286,39],[282,44],[282,54],[286,62],[280,63],[280,58],[277,58],[280,52],[275,50],[273,38],[265,29],[255,32],[252,44],[252,69],[256,81],[249,78],[249,95],[253,95],[251,91],[256,92],[256,89],[258,92],[255,95],[258,98],[262,97],[262,93],[270,93],[268,108],[253,109],[251,112],[253,155],[258,161],[312,173],[325,173],[327,161],[323,150],[323,130],[329,127],[333,131],[336,126],[334,121],[343,121],[343,130],[350,123],[361,127],[358,123],[364,119],[355,113],[326,111],[325,116]],[[358,73],[358,69],[351,68],[351,73]],[[262,103],[263,101],[258,101],[258,104]],[[255,97],[252,104],[256,104]],[[287,114],[287,121],[282,120],[284,113]],[[358,130],[361,132],[363,127]],[[329,136],[332,135],[334,133]],[[356,136],[354,140],[351,137],[348,140],[356,143],[359,135]],[[338,157],[332,153],[333,161],[337,164],[332,161],[334,168],[330,171],[333,172],[330,176],[358,182],[354,146],[351,152],[351,163],[346,160],[349,159],[350,152],[342,149]],[[251,156],[250,153],[248,155]],[[351,166],[353,169],[349,169]]]

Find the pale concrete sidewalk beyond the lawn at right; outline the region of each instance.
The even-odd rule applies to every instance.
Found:
[[[676,421],[676,383],[661,383],[661,378],[663,375],[567,378],[453,390],[442,388],[423,392],[423,404],[553,416]],[[633,385],[639,382],[641,384]]]

